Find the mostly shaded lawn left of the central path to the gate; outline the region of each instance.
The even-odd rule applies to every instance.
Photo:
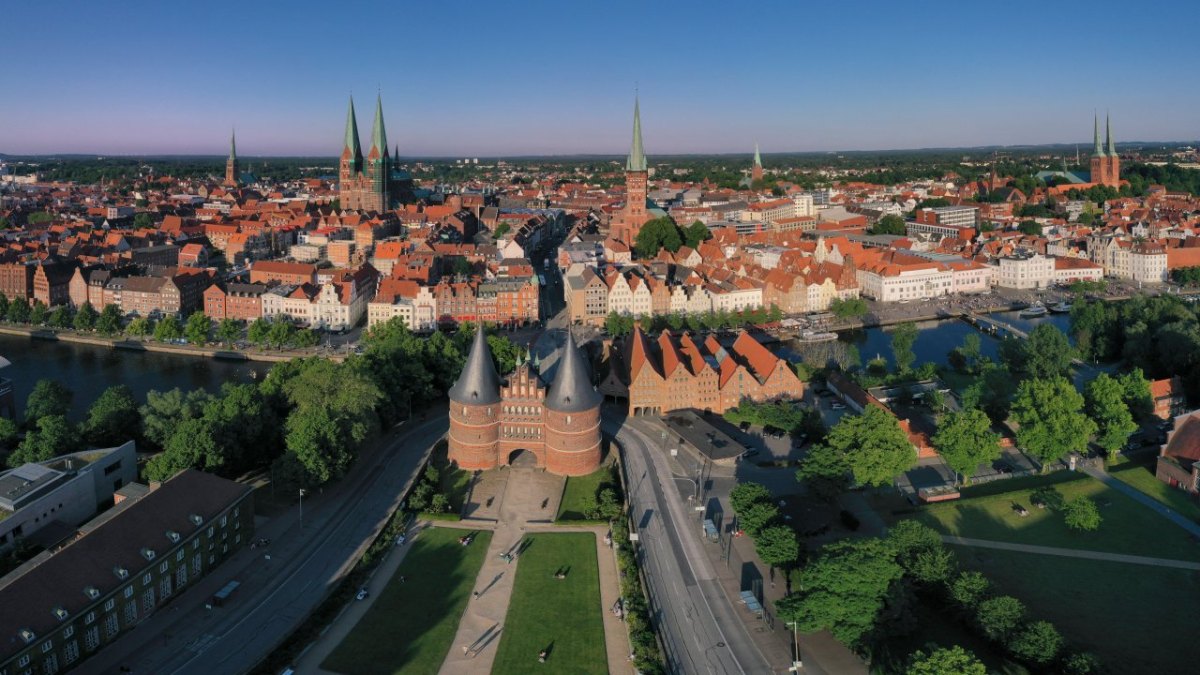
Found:
[[[396,575],[320,667],[347,674],[436,674],[458,629],[492,533],[469,546],[461,530],[431,527],[413,539]],[[404,581],[400,581],[400,577]]]

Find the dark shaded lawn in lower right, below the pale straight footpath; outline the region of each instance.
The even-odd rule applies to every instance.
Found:
[[[1200,575],[1186,569],[953,546],[964,567],[1052,622],[1105,673],[1184,675],[1200,662]]]

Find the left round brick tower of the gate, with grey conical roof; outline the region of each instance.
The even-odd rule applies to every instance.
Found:
[[[468,471],[496,468],[500,435],[500,378],[480,325],[467,364],[450,388],[449,459]]]

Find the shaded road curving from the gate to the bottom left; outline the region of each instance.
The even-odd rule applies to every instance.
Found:
[[[446,417],[439,414],[402,429],[336,486],[305,500],[302,530],[290,526],[272,534],[270,560],[258,551],[239,552],[160,610],[155,621],[138,626],[78,670],[113,673],[124,665],[134,673],[179,675],[248,671],[349,572],[446,428]],[[234,577],[242,584],[234,599],[223,608],[204,609],[211,591],[200,586]]]

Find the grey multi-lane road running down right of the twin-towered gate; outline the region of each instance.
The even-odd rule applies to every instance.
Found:
[[[624,449],[629,508],[637,524],[652,614],[671,673],[770,673],[701,550],[700,521],[671,485],[655,443],[623,418],[604,429]]]

